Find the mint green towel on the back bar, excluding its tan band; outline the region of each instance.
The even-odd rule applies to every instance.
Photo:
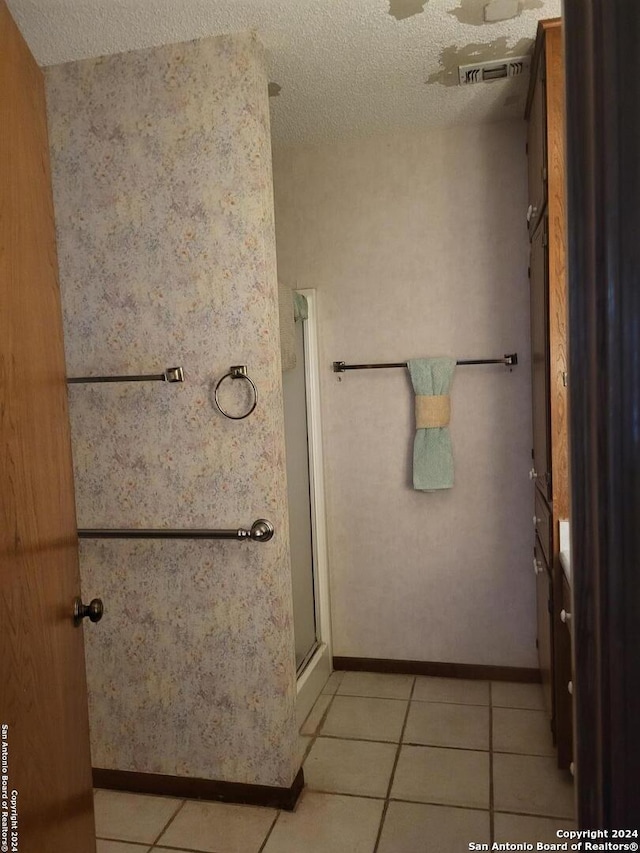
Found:
[[[453,358],[413,358],[407,362],[416,395],[447,395],[456,367]],[[431,492],[453,486],[453,453],[448,427],[416,429],[413,488]]]

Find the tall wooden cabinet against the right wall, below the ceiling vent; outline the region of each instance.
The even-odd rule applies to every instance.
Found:
[[[538,656],[558,764],[568,768],[572,760],[571,697],[567,689],[571,648],[560,616],[564,575],[559,559],[559,521],[569,517],[564,58],[560,19],[539,23],[526,117],[533,412],[530,476],[535,483]],[[539,565],[543,565],[544,572],[538,571]]]

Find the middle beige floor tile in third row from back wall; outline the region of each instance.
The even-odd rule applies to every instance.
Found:
[[[419,803],[489,808],[489,754],[403,746],[391,796]]]

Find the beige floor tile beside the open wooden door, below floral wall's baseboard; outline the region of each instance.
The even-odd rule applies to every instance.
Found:
[[[96,835],[151,844],[182,805],[182,800],[100,790],[94,796]]]

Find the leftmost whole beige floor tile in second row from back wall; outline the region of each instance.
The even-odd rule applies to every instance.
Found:
[[[407,704],[399,699],[336,696],[320,733],[397,743],[402,734]]]

